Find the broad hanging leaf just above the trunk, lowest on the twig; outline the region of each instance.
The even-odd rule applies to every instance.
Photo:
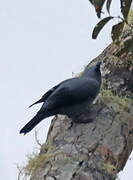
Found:
[[[124,27],[124,21],[122,21],[112,27],[111,36],[112,36],[113,41],[119,40],[119,37],[123,31],[123,27]]]

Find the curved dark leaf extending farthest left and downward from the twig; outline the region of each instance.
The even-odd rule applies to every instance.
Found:
[[[105,24],[107,24],[108,21],[110,21],[111,19],[113,19],[114,17],[112,16],[109,16],[109,17],[106,17],[104,19],[102,19],[96,26],[95,28],[93,29],[93,33],[92,33],[92,38],[93,39],[96,39],[99,32],[101,31],[101,29],[105,26]]]

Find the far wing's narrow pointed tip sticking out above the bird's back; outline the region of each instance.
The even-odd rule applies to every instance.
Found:
[[[60,84],[58,84],[58,85],[54,86],[53,88],[51,88],[51,89],[50,89],[49,91],[47,91],[38,101],[36,101],[35,103],[31,104],[31,105],[29,106],[29,108],[32,107],[32,106],[35,105],[35,104],[45,102],[46,99],[47,99],[47,98],[55,91],[55,89],[56,89],[57,87],[59,87],[59,86],[60,86]]]

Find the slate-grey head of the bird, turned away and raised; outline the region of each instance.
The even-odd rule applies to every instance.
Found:
[[[90,78],[95,78],[101,82],[101,71],[100,71],[101,61],[97,62],[94,66],[88,67],[82,74],[82,76],[87,76]]]

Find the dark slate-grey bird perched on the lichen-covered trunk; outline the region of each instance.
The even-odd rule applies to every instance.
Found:
[[[61,114],[68,117],[83,113],[92,104],[101,87],[101,61],[87,67],[81,76],[62,81],[47,91],[41,99],[30,105],[43,103],[37,114],[20,130],[30,132],[43,119]]]

